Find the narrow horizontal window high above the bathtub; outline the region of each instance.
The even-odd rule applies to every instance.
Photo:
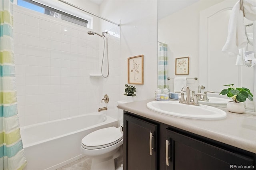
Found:
[[[17,5],[92,29],[92,17],[60,1],[17,0]]]

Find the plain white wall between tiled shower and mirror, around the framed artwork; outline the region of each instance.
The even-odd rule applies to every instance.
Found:
[[[121,22],[120,99],[126,99],[127,58],[142,54],[144,84],[136,85],[135,100],[153,98],[157,88],[157,0],[103,1],[100,15]]]

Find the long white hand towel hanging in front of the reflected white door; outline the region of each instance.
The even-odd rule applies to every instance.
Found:
[[[246,45],[244,14],[240,10],[240,2],[238,1],[232,8],[228,23],[228,38],[222,51],[226,55],[237,57],[240,55],[238,49],[246,47]]]

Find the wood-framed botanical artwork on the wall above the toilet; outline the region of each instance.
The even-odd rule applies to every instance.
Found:
[[[137,55],[128,58],[128,84],[143,84],[143,57]]]

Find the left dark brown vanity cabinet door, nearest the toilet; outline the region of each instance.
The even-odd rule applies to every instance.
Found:
[[[156,127],[124,114],[124,170],[156,170]]]

